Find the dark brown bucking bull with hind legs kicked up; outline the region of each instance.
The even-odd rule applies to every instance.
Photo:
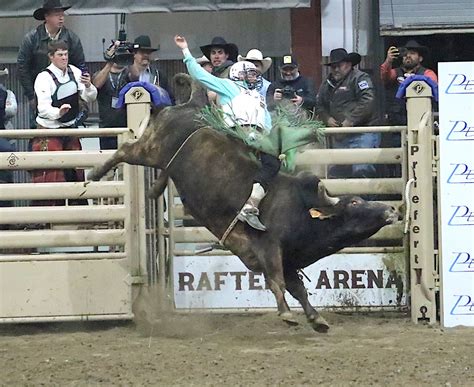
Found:
[[[186,102],[154,114],[139,139],[122,144],[88,178],[99,180],[120,162],[159,168],[153,196],[171,177],[189,213],[222,240],[249,196],[257,163],[242,142],[198,123],[207,98],[196,82],[180,74],[175,84]],[[326,332],[329,325],[309,303],[298,270],[370,237],[397,221],[398,212],[357,196],[332,197],[309,173],[279,173],[260,209],[267,231],[236,222],[223,244],[250,270],[264,274],[285,322],[297,324],[284,297],[288,290],[313,329]]]

